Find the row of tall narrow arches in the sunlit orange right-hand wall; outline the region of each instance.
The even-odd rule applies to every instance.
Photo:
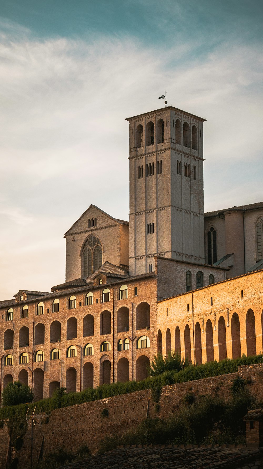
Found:
[[[262,333],[263,333],[263,313],[262,313]],[[232,346],[232,357],[241,357],[241,333],[240,333],[240,319],[239,315],[234,312],[231,318],[231,346]],[[216,331],[217,333],[213,332]],[[246,336],[246,352],[247,356],[256,355],[256,325],[255,325],[255,314],[252,309],[249,309],[245,319],[245,331]],[[205,348],[202,347],[202,333],[205,333]],[[216,335],[217,334],[217,335]],[[184,350],[185,358],[196,364],[214,361],[214,340],[216,340],[216,346],[218,346],[218,357],[219,360],[227,358],[227,347],[226,347],[226,321],[223,316],[220,316],[217,324],[214,320],[207,319],[205,326],[199,322],[194,327],[194,337],[191,341],[190,326],[185,325],[183,332],[180,331],[179,326],[175,328],[175,351],[178,351],[180,355]],[[194,344],[194,348],[191,348],[191,342]],[[157,335],[157,349],[158,353],[163,353],[162,345],[162,333],[159,329]],[[171,332],[168,328],[165,336],[165,354],[171,352]]]

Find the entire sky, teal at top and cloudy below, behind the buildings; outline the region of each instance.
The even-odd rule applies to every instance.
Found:
[[[129,219],[126,117],[204,124],[205,211],[263,201],[262,0],[1,0],[0,300],[65,281],[64,233]]]

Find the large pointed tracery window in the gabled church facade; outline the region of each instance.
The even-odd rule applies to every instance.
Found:
[[[82,251],[83,277],[88,277],[102,266],[102,244],[91,234]]]

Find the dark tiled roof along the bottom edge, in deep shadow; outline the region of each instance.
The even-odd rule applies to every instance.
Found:
[[[73,462],[60,469],[233,469],[263,458],[263,448],[243,445],[134,445]]]

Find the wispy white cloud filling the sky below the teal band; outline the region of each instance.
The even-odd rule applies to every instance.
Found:
[[[132,37],[2,35],[2,298],[64,280],[62,236],[89,204],[128,218],[124,118],[161,107],[165,89],[168,104],[207,119],[205,209],[263,198],[253,192],[254,179],[261,181],[262,51],[225,44],[193,62],[189,49],[171,45],[164,53]]]

